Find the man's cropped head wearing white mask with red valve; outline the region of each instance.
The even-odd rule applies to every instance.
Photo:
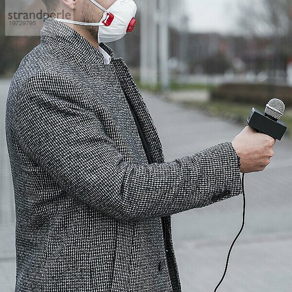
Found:
[[[43,1],[46,1],[51,17],[66,23],[96,48],[101,42],[121,39],[136,24],[134,0]]]

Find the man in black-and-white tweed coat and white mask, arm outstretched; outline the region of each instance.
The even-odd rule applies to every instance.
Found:
[[[274,139],[245,128],[164,162],[126,64],[99,44],[133,26],[134,2],[44,2],[72,18],[44,19],[7,99],[16,292],[180,292],[170,216],[239,195]]]

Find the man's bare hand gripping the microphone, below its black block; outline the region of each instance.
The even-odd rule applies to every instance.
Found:
[[[274,156],[275,142],[274,138],[257,133],[254,128],[245,127],[232,142],[237,155],[241,158],[240,171],[249,173],[264,170]]]

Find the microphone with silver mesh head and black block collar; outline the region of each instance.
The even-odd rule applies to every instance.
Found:
[[[287,130],[286,124],[280,121],[284,111],[285,104],[280,99],[271,99],[266,105],[265,113],[256,108],[252,109],[247,124],[258,132],[281,140]]]

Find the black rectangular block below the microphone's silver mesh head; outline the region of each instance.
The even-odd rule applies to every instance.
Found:
[[[287,130],[287,125],[277,120],[256,108],[253,108],[248,119],[247,124],[258,132],[267,134],[274,139],[281,140]]]

